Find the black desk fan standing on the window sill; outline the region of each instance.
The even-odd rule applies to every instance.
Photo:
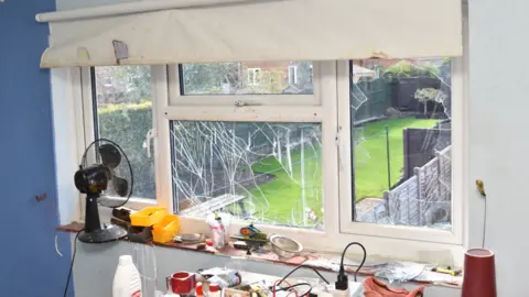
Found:
[[[87,158],[95,160],[95,163],[88,165]],[[127,231],[121,227],[106,224],[101,228],[98,210],[98,205],[121,207],[132,195],[132,166],[121,147],[106,139],[90,143],[83,154],[74,180],[77,189],[86,194],[85,229],[79,233],[79,241],[102,243],[126,237]],[[127,198],[116,202],[116,199],[108,199],[110,197]]]

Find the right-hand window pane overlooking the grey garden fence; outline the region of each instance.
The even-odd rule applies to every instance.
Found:
[[[450,64],[350,63],[356,221],[451,229]]]

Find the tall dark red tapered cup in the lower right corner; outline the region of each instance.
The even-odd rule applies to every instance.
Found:
[[[496,297],[494,253],[471,249],[465,253],[462,297]]]

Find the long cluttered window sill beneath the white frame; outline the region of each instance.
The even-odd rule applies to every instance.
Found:
[[[76,233],[82,229],[83,229],[83,223],[79,223],[79,222],[72,222],[69,224],[64,224],[56,228],[57,231],[71,232],[71,233]],[[128,240],[123,239],[122,241],[128,241]],[[234,258],[245,258],[245,260],[251,260],[257,262],[262,261],[262,262],[280,263],[280,264],[285,264],[291,266],[305,264],[305,265],[313,266],[319,271],[324,271],[324,272],[337,271],[337,270],[331,268],[331,266],[335,264],[333,264],[330,261],[332,257],[336,257],[336,255],[331,255],[327,253],[306,252],[306,253],[303,253],[302,255],[293,256],[291,258],[280,258],[273,252],[269,252],[269,253],[253,252],[251,255],[247,255],[246,251],[237,250],[230,245],[227,245],[223,250],[216,250],[212,246],[206,246],[203,250],[198,250],[196,244],[180,244],[180,243],[172,243],[172,242],[171,243],[152,242],[152,243],[145,243],[145,244],[154,244],[158,246],[164,246],[170,249],[179,249],[179,250],[185,250],[185,251],[197,252],[197,253],[215,254],[219,256],[228,256]],[[319,264],[316,264],[316,260]],[[382,267],[384,265],[373,265],[371,267],[364,267],[358,272],[358,274],[363,276],[374,276]],[[354,271],[355,271],[354,268],[346,266],[346,272],[348,274],[353,274]],[[463,277],[461,275],[450,276],[446,274],[441,274],[441,273],[430,272],[429,270],[424,270],[418,277],[407,282],[421,284],[421,285],[461,288],[463,284]]]

